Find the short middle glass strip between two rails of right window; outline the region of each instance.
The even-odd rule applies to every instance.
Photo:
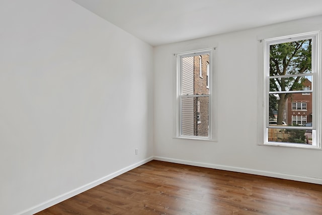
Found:
[[[312,76],[270,78],[270,92],[311,90]]]

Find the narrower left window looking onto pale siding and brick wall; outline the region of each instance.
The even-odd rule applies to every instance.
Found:
[[[177,54],[177,137],[212,140],[211,58],[211,49]]]

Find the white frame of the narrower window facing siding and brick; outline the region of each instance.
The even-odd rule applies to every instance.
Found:
[[[213,48],[209,48],[209,49],[201,49],[201,50],[195,50],[195,51],[189,51],[189,52],[182,52],[182,53],[178,53],[175,54],[176,58],[177,58],[177,75],[176,75],[176,96],[175,96],[175,104],[176,104],[176,117],[175,117],[175,136],[174,138],[181,138],[181,139],[192,139],[192,140],[206,140],[206,141],[217,141],[215,139],[216,137],[216,123],[213,120],[214,116],[215,116],[215,107],[213,105],[213,94],[212,94],[212,58],[213,58]],[[188,56],[198,56],[199,55],[199,60],[200,55],[203,54],[209,54],[209,90],[208,90],[208,94],[206,95],[182,95],[182,58],[183,57],[188,57]],[[200,63],[200,61],[199,61]],[[208,97],[208,101],[209,101],[209,107],[208,107],[208,136],[186,136],[186,135],[182,135],[182,114],[181,114],[181,100],[184,97]]]

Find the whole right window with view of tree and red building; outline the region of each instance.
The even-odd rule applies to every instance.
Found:
[[[320,148],[318,41],[319,32],[264,40],[264,145]]]

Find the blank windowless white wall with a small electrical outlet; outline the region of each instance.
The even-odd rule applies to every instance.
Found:
[[[1,214],[153,156],[151,46],[72,1],[3,0],[0,26]]]

